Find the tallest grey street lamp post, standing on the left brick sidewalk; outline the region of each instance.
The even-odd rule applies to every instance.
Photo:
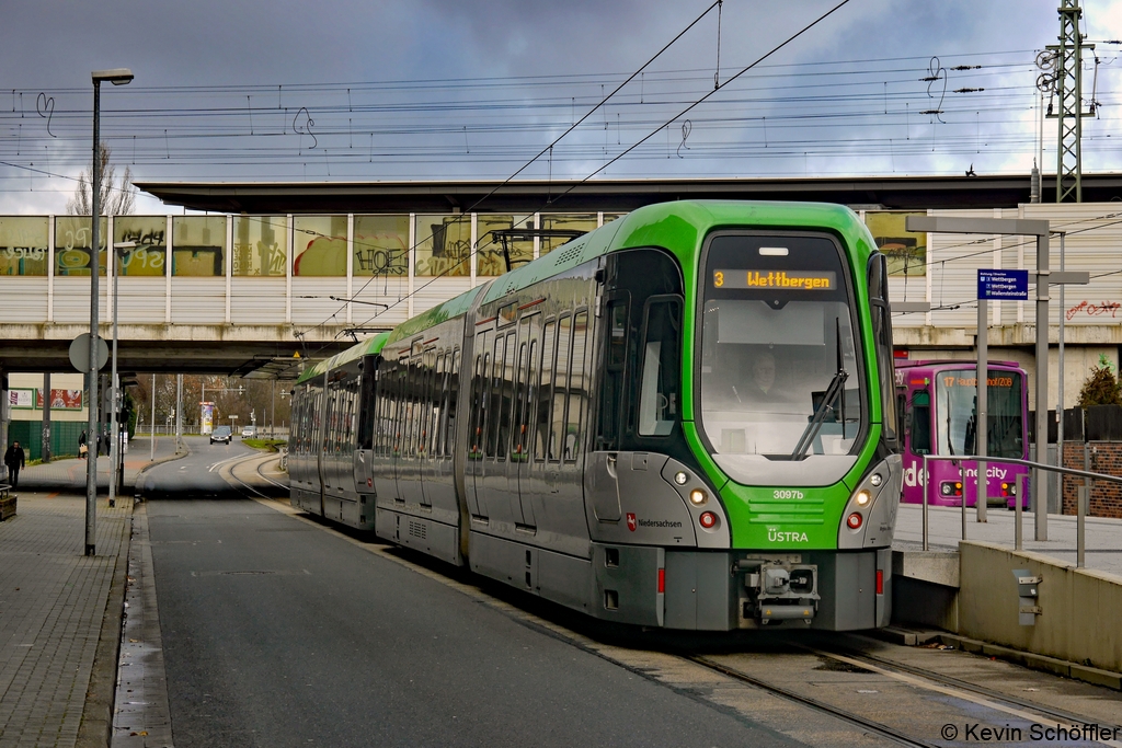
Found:
[[[108,71],[93,71],[93,174],[90,191],[92,205],[90,211],[91,249],[90,249],[90,444],[98,444],[98,249],[101,243],[101,82],[109,81],[113,85],[125,85],[132,80],[132,71],[117,67]],[[96,553],[98,520],[98,451],[86,459],[85,469],[85,555]]]

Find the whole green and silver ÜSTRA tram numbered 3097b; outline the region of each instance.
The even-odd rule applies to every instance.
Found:
[[[643,207],[337,358],[297,506],[603,619],[889,622],[888,278],[848,209]]]

